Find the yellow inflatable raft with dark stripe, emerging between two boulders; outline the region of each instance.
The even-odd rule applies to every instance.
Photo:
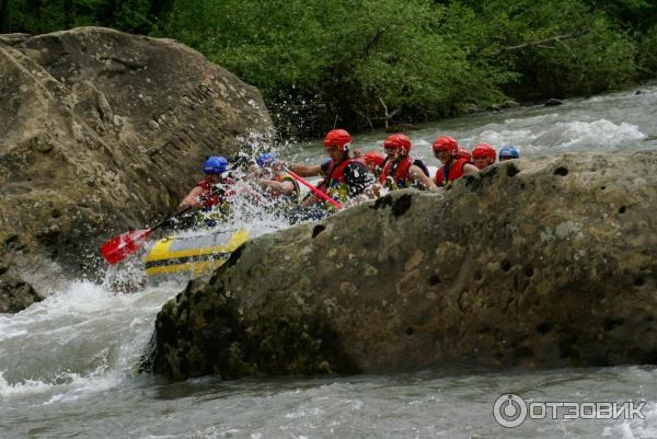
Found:
[[[143,258],[146,276],[203,276],[223,265],[247,239],[249,230],[245,229],[161,239]]]

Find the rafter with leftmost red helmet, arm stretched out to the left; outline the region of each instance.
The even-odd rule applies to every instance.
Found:
[[[300,176],[323,177],[316,185],[318,189],[345,206],[369,199],[371,194],[366,190],[373,183],[372,175],[362,162],[349,155],[350,146],[349,132],[344,129],[332,129],[324,137],[324,149],[328,154],[328,160],[314,165],[293,163],[289,165],[289,169]],[[302,201],[304,206],[318,203],[323,203],[327,208],[331,206],[312,194]]]

